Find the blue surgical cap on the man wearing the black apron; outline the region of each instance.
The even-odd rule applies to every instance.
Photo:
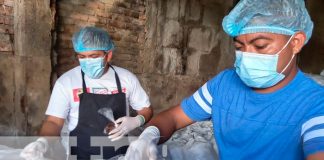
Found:
[[[73,35],[74,51],[77,53],[86,51],[108,51],[115,48],[107,31],[97,27],[84,27]]]

